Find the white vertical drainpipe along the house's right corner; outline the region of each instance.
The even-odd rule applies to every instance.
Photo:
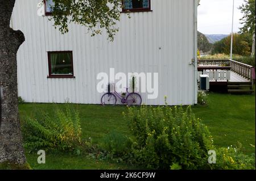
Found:
[[[193,45],[193,51],[194,51],[194,104],[197,104],[197,6],[199,6],[200,0],[194,0],[194,45]]]

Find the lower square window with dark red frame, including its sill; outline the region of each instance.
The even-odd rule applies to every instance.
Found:
[[[72,51],[47,52],[48,78],[75,78]]]

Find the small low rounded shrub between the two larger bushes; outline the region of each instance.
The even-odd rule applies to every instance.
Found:
[[[102,147],[113,155],[125,155],[131,148],[130,139],[116,131],[107,134],[102,142]]]

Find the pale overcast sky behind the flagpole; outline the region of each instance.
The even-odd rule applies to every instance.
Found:
[[[237,8],[243,0],[234,0],[234,32],[239,31],[242,13]],[[205,34],[229,34],[232,28],[233,0],[201,0],[198,30]]]

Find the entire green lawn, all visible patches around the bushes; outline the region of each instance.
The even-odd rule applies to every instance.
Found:
[[[20,104],[20,116],[32,115],[38,108],[54,113],[53,107],[63,104]],[[100,144],[110,131],[130,135],[127,124],[122,118],[125,106],[102,107],[97,105],[71,104],[80,112],[82,137],[91,138]],[[255,95],[209,94],[208,106],[193,106],[197,117],[208,126],[217,146],[228,147],[240,141],[245,154],[255,152]],[[251,145],[250,145],[251,144]],[[28,163],[34,169],[134,169],[114,162],[98,161],[84,156],[70,154],[46,155],[46,164],[37,163],[36,153],[27,153]]]

